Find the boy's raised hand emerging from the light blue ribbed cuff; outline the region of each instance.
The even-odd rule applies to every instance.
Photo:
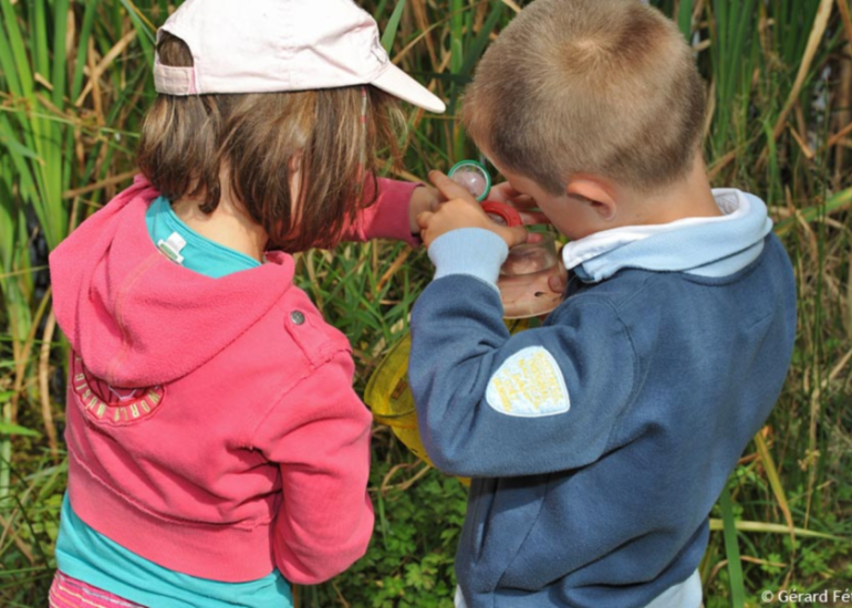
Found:
[[[460,228],[490,230],[510,248],[527,241],[527,231],[523,228],[507,228],[491,221],[470,192],[446,175],[440,171],[430,171],[429,180],[447,202],[440,205],[435,211],[423,211],[417,216],[420,238],[426,247],[432,245],[441,234]]]

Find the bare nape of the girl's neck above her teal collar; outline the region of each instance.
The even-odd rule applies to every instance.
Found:
[[[222,186],[227,184],[222,180]],[[220,245],[263,262],[269,237],[263,227],[257,223],[232,196],[222,188],[219,205],[212,213],[205,213],[199,206],[202,199],[181,197],[172,202],[178,218],[201,237]]]

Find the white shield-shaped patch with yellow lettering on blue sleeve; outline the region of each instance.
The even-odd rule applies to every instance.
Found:
[[[571,408],[562,371],[553,355],[540,346],[503,361],[488,382],[486,401],[500,413],[523,418],[554,416]]]

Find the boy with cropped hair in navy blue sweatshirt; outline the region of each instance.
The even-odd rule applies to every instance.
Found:
[[[537,0],[478,66],[465,124],[570,239],[571,274],[544,326],[510,336],[495,283],[526,233],[433,174],[449,200],[418,218],[437,270],[409,380],[429,455],[474,478],[457,606],[702,604],[708,514],[796,329],[766,206],[710,190],[704,94],[637,0]]]

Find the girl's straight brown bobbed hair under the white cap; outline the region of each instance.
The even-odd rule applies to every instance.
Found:
[[[157,52],[166,65],[193,65],[187,45],[168,33]],[[385,149],[398,158],[403,124],[393,97],[370,85],[158,95],[143,123],[137,161],[166,198],[202,197],[206,213],[219,203],[220,170],[227,169],[231,192],[267,231],[270,249],[328,248],[375,202],[377,154]]]

